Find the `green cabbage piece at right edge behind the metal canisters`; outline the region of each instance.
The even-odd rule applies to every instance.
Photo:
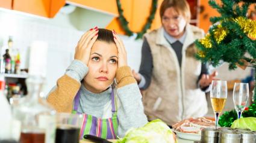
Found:
[[[256,131],[256,118],[255,117],[239,118],[232,123],[231,127],[250,129],[250,130]]]

